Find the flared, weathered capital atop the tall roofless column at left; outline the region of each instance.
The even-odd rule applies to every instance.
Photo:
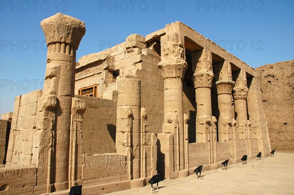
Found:
[[[41,22],[47,46],[64,43],[78,48],[86,32],[85,23],[61,13],[57,13]]]

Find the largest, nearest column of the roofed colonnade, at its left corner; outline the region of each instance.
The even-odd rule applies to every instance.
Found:
[[[184,160],[184,113],[182,79],[187,69],[182,38],[169,26],[168,33],[161,37],[161,62],[158,68],[164,79],[164,124],[163,133],[173,136],[174,171],[185,169]]]

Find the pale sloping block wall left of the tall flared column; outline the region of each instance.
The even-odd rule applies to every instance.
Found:
[[[15,98],[6,166],[19,167],[31,164],[33,136],[36,132],[36,123],[40,122],[36,112],[41,96],[42,90],[36,90]]]

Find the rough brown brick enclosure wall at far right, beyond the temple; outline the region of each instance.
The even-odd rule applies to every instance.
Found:
[[[255,69],[272,149],[294,149],[294,60]]]

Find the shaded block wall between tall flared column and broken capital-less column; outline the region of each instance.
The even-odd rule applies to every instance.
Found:
[[[114,100],[75,96],[85,101],[82,123],[82,153],[115,153],[116,97]]]

